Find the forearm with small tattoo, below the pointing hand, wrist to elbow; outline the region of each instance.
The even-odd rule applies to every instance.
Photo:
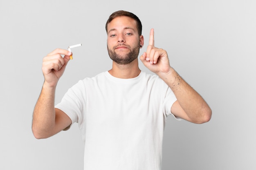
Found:
[[[193,123],[204,123],[211,118],[211,109],[204,99],[182,77],[170,68],[168,73],[159,74],[175,94],[180,106]]]

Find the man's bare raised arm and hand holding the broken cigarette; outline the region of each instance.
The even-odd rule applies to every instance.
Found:
[[[51,137],[72,123],[63,111],[54,108],[56,85],[64,73],[70,55],[72,53],[67,50],[55,49],[43,59],[42,71],[45,81],[34,108],[32,121],[32,132],[37,139]]]

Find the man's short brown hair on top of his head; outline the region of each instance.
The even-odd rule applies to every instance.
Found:
[[[108,29],[107,29],[108,24],[109,24],[113,19],[115,19],[115,18],[117,18],[117,17],[121,17],[121,16],[127,16],[127,17],[130,17],[130,18],[134,19],[134,20],[137,22],[138,33],[139,33],[139,35],[141,35],[141,33],[142,33],[142,25],[141,25],[141,22],[140,22],[139,18],[138,18],[135,14],[133,14],[133,13],[130,13],[130,12],[128,12],[128,11],[122,11],[122,10],[121,10],[121,11],[116,11],[116,12],[112,13],[112,14],[109,16],[109,18],[108,18],[108,20],[107,20],[107,23],[106,23],[106,31],[107,31],[107,33],[108,33]]]

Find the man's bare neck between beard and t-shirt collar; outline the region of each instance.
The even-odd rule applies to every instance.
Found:
[[[112,76],[121,79],[131,79],[139,75],[141,70],[139,69],[138,58],[133,60],[130,64],[120,65],[113,62],[112,69],[108,71]]]

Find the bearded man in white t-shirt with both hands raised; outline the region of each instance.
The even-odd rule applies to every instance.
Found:
[[[211,119],[204,99],[170,66],[166,51],[154,46],[153,29],[140,60],[156,75],[141,72],[141,28],[136,15],[112,13],[106,23],[112,69],[80,80],[55,107],[56,84],[72,53],[56,49],[43,59],[45,82],[34,109],[34,136],[47,138],[78,122],[85,170],[160,170],[166,117],[197,124]]]

